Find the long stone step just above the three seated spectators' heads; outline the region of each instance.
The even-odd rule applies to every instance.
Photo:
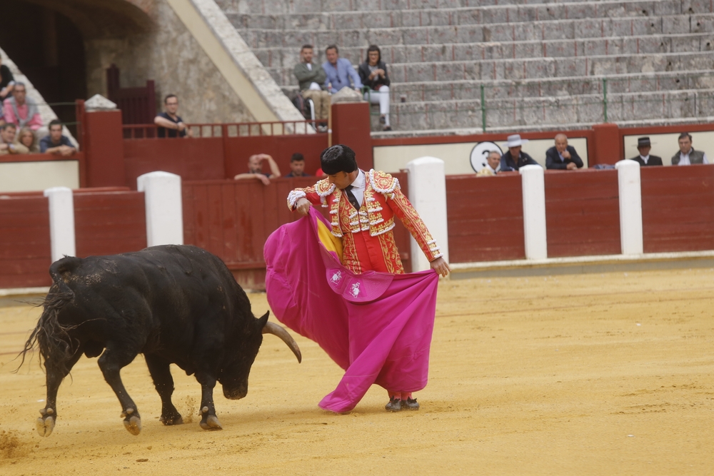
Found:
[[[714,32],[714,14],[668,15],[643,18],[579,19],[533,21],[527,23],[411,26],[405,28],[340,29],[310,31],[304,29],[237,29],[251,49],[296,49],[312,44],[323,49],[329,44],[342,48],[370,44],[442,45],[482,41],[548,41],[562,39],[608,38]]]

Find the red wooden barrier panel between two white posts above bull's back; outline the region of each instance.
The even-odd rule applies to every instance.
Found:
[[[146,248],[144,192],[74,191],[74,229],[80,258]]]

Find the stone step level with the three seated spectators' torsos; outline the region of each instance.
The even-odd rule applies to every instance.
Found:
[[[636,74],[714,69],[709,51],[625,54],[570,58],[503,59],[486,61],[425,61],[387,66],[395,83],[461,80],[497,81],[593,75]],[[278,84],[295,83],[291,68],[266,68]]]

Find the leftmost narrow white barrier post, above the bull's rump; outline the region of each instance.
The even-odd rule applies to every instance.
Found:
[[[49,201],[49,239],[52,262],[76,255],[74,240],[74,197],[67,187],[47,188]]]

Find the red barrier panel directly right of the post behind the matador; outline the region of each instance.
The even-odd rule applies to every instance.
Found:
[[[452,263],[526,258],[518,173],[447,176],[446,203]]]

